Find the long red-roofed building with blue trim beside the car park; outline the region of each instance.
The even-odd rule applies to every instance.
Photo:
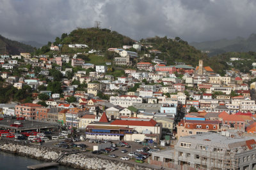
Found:
[[[122,117],[120,120],[114,120],[113,122],[99,121],[88,124],[86,127],[86,138],[124,141],[139,139],[143,141],[147,134],[155,134],[154,137],[147,137],[147,139],[156,141],[161,134],[161,129],[161,125],[150,118]]]

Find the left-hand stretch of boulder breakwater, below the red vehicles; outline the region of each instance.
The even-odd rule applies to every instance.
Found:
[[[1,143],[0,150],[45,161],[54,161],[61,155],[61,152],[58,150],[52,150],[42,146],[24,146],[14,143]]]

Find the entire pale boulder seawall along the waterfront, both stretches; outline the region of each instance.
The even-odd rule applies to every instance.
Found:
[[[21,145],[19,143],[3,142],[0,140],[0,150],[3,152],[15,153],[21,156],[31,157],[47,162],[55,162],[63,151],[55,148],[47,148],[44,146]],[[124,169],[124,170],[151,170],[148,167],[143,167],[138,164],[131,164],[129,162],[121,162],[118,160],[103,159],[94,157],[84,153],[74,153],[65,155],[59,163],[63,166],[70,166],[79,169]]]

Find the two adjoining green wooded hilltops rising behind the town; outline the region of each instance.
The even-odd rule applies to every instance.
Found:
[[[68,44],[80,43],[89,46],[89,48],[84,49],[85,51],[93,48],[106,54],[108,48],[122,48],[123,45],[132,45],[135,41],[109,29],[78,28],[70,32],[70,34],[63,33],[61,37],[57,37],[53,43],[54,45],[62,45],[61,53],[71,54],[83,52],[83,50],[68,48]],[[151,57],[146,57],[143,61],[151,62],[151,60],[157,56],[158,59],[165,60],[168,65],[174,65],[175,62],[184,62],[185,64],[190,64],[195,67],[198,65],[198,60],[203,59],[205,66],[211,66],[212,69],[218,73],[227,68],[225,62],[221,62],[219,59],[209,58],[206,53],[196,50],[195,47],[190,46],[187,41],[184,41],[179,37],[170,39],[166,36],[163,38],[156,36],[154,38],[141,39],[139,43],[142,45],[140,52],[136,51],[134,48],[130,48],[129,50],[138,52],[140,56],[150,53],[150,50],[159,50],[161,52],[150,53]],[[38,53],[38,55],[42,53],[47,53],[49,55],[50,46],[51,42],[49,42],[48,45],[43,46],[42,49],[38,50],[36,53]],[[108,56],[108,60],[113,60],[113,57],[114,55]]]

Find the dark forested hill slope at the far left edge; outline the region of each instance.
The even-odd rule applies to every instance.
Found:
[[[33,52],[34,48],[18,41],[12,41],[0,35],[0,54],[18,55],[20,52]]]

